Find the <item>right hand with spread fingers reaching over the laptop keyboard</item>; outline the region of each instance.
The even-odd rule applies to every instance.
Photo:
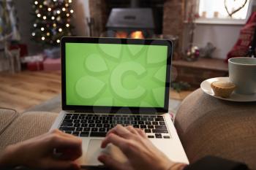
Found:
[[[105,148],[110,143],[119,147],[129,160],[127,163],[119,163],[111,158],[110,155],[100,155],[99,161],[111,169],[168,170],[176,165],[148,140],[142,130],[133,128],[130,125],[125,128],[117,125],[111,129],[102,142],[102,147]]]

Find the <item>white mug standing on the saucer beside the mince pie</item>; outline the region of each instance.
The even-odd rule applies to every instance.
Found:
[[[235,93],[256,93],[256,58],[238,57],[228,60],[230,82],[236,85]]]

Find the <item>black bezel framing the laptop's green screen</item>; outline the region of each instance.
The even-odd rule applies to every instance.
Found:
[[[105,106],[80,106],[67,105],[66,93],[66,43],[102,43],[102,44],[121,44],[121,45],[163,45],[167,46],[167,69],[165,82],[165,103],[164,107],[105,107]],[[89,113],[156,113],[168,112],[169,90],[170,90],[170,68],[173,52],[173,44],[170,40],[164,39],[117,39],[117,38],[92,38],[92,37],[63,37],[61,39],[61,101],[63,110]]]

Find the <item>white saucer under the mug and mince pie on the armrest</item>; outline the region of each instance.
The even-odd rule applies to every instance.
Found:
[[[244,94],[238,94],[238,93],[232,93],[228,98],[222,98],[219,96],[214,95],[214,91],[211,89],[211,82],[214,81],[225,81],[229,82],[228,77],[217,77],[217,78],[211,78],[208,80],[205,80],[201,83],[200,87],[206,94],[210,96],[214,96],[215,98],[219,98],[225,101],[240,101],[240,102],[246,102],[246,101],[256,101],[256,93],[252,95],[244,95]]]

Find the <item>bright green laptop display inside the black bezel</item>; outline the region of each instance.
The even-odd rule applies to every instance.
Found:
[[[167,46],[65,45],[67,105],[164,107]]]

